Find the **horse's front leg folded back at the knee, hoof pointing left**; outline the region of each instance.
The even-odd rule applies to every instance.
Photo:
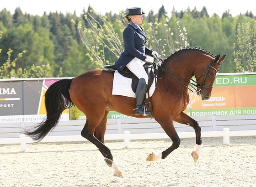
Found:
[[[171,138],[172,140],[172,145],[171,147],[169,147],[168,149],[166,149],[165,151],[161,152],[159,155],[155,155],[155,153],[151,153],[146,161],[157,161],[160,159],[165,159],[166,156],[168,156],[172,151],[174,151],[175,149],[177,149],[180,146],[181,140],[175,130],[175,127],[173,125],[173,121],[172,119],[166,119],[166,118],[161,118],[161,119],[157,119],[155,118],[155,120],[161,125],[161,127],[163,128],[163,130],[165,131],[165,133]]]

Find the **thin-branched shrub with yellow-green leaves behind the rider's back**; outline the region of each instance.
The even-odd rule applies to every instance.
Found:
[[[95,12],[93,13],[96,14]],[[100,21],[97,21],[88,12],[85,15],[85,20],[89,28],[83,28],[81,21],[77,24],[77,28],[81,40],[85,44],[86,56],[89,57],[91,65],[94,68],[104,68],[106,64],[111,61],[114,62],[112,59],[117,59],[123,52],[123,43],[120,41],[120,37],[114,30],[112,23],[107,20],[107,16],[97,16]],[[71,20],[71,22],[75,23],[74,20]],[[125,28],[123,22],[116,20],[116,24],[120,29],[119,31],[123,32]]]

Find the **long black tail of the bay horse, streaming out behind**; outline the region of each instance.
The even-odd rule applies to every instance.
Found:
[[[59,122],[60,115],[64,109],[73,105],[69,96],[69,87],[73,79],[62,79],[53,83],[45,93],[45,108],[47,117],[41,123],[36,124],[30,130],[23,130],[22,133],[30,136],[38,142],[53,130]]]

